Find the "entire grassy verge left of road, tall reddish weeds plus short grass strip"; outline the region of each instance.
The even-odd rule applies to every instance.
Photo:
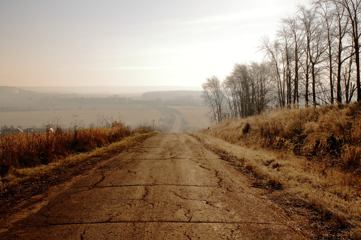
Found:
[[[75,129],[0,137],[0,195],[12,195],[45,178],[126,148],[154,134],[155,126]]]

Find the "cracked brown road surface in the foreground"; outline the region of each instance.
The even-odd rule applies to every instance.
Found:
[[[185,133],[152,136],[87,174],[5,218],[0,239],[306,239]]]

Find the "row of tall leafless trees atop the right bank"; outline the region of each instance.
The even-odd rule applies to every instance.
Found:
[[[216,122],[272,107],[361,101],[361,0],[313,0],[261,38],[262,63],[235,64],[202,85]]]

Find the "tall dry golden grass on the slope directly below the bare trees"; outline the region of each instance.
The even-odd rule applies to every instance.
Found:
[[[274,110],[228,120],[210,130],[209,134],[231,143],[290,150],[322,160],[325,167],[337,165],[361,173],[361,106],[356,103]]]

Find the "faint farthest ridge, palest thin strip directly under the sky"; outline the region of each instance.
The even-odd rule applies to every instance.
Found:
[[[183,86],[97,86],[97,87],[19,87],[24,90],[48,93],[129,94],[148,91],[201,90],[201,87]]]

